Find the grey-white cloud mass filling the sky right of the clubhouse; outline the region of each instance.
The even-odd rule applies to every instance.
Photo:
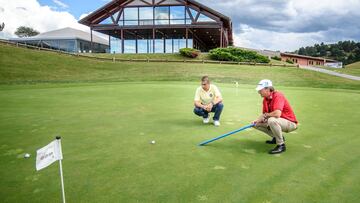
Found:
[[[199,0],[229,16],[237,46],[292,51],[360,41],[359,0]]]

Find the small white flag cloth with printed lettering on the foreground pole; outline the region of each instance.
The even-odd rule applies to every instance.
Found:
[[[36,170],[39,171],[46,168],[62,158],[59,140],[54,140],[50,144],[36,151]]]

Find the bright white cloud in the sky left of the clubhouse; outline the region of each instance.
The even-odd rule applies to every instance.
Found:
[[[0,33],[3,38],[16,37],[14,32],[20,26],[32,27],[40,33],[64,27],[89,32],[89,28],[79,24],[69,12],[41,6],[37,0],[0,0],[0,7],[0,23],[5,22],[5,29]]]

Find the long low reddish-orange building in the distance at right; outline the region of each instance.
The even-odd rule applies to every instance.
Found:
[[[304,56],[298,54],[281,53],[282,61],[292,61],[300,66],[329,66],[332,68],[342,68],[342,62],[332,59]]]

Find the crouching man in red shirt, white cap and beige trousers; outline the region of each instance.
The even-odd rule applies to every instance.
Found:
[[[264,98],[263,114],[255,120],[255,128],[272,137],[266,141],[267,144],[276,144],[276,147],[269,151],[270,154],[278,154],[286,151],[283,132],[289,133],[297,129],[298,121],[285,96],[275,91],[270,80],[259,82],[256,90]]]

